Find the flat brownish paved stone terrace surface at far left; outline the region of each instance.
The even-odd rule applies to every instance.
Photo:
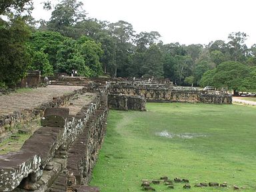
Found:
[[[53,97],[60,97],[66,93],[71,93],[81,86],[49,85],[37,89],[26,90],[20,93],[10,93],[0,97],[0,116],[7,115],[13,111],[23,111],[33,109],[42,103],[51,101]]]

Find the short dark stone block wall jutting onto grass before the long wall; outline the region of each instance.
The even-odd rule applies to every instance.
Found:
[[[122,95],[122,94],[109,94],[108,95],[109,109],[117,110],[135,110],[145,111],[146,99],[138,95]]]

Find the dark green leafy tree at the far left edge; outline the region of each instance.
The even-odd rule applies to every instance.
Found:
[[[29,27],[21,17],[3,21],[0,19],[0,83],[13,86],[25,77],[31,56],[25,46]]]

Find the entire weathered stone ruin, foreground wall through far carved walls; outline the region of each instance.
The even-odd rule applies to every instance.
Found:
[[[0,191],[99,191],[91,179],[109,108],[145,111],[146,101],[231,103],[225,94],[174,89],[171,82],[61,77],[61,85],[86,85],[29,111],[0,118],[0,128],[41,118],[20,151],[0,155]],[[54,84],[54,83],[53,83]],[[51,85],[50,85],[51,86]]]

